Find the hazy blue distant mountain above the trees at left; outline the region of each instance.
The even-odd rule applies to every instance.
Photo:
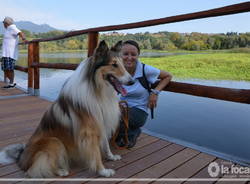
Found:
[[[39,25],[39,24],[34,24],[33,22],[29,22],[29,21],[17,21],[15,22],[15,24],[19,29],[25,29],[33,33],[46,33],[49,31],[58,30],[56,28],[49,26],[48,24]],[[3,32],[4,32],[4,26],[3,24],[1,24],[0,34],[3,34]]]

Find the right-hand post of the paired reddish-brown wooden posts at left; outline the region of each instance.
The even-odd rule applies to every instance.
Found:
[[[39,42],[34,42],[34,55],[33,63],[39,63]],[[39,67],[34,68],[34,96],[40,95],[40,69]]]

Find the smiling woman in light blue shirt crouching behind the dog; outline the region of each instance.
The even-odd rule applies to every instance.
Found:
[[[129,129],[128,129],[128,148],[136,144],[136,139],[141,133],[141,127],[145,124],[148,117],[148,108],[155,108],[158,95],[161,90],[170,82],[172,76],[170,73],[154,68],[150,65],[144,66],[144,74],[150,84],[159,80],[158,85],[149,93],[148,89],[143,87],[139,81],[143,77],[143,64],[138,60],[140,48],[137,42],[127,40],[123,42],[121,56],[127,71],[134,79],[134,84],[124,86],[127,90],[126,96],[121,96],[129,106]],[[117,145],[124,146],[124,127],[121,123],[120,132],[116,139]]]

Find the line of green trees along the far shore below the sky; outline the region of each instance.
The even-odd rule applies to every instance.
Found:
[[[31,33],[22,30],[29,40],[36,38],[51,38],[63,35],[65,31],[50,31],[47,33]],[[178,32],[158,32],[158,33],[135,33],[124,34],[118,32],[102,33],[100,40],[106,40],[109,45],[114,45],[119,40],[135,40],[141,49],[154,49],[160,51],[172,50],[219,50],[241,47],[250,47],[250,32],[237,33],[228,32],[221,34],[205,33],[178,33]],[[57,50],[84,50],[88,47],[87,35],[75,36],[63,40],[42,42],[40,48],[43,51]],[[26,49],[26,46],[21,46]]]

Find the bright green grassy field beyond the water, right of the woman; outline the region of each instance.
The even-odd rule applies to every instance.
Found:
[[[197,53],[140,60],[177,78],[250,81],[250,53]]]

